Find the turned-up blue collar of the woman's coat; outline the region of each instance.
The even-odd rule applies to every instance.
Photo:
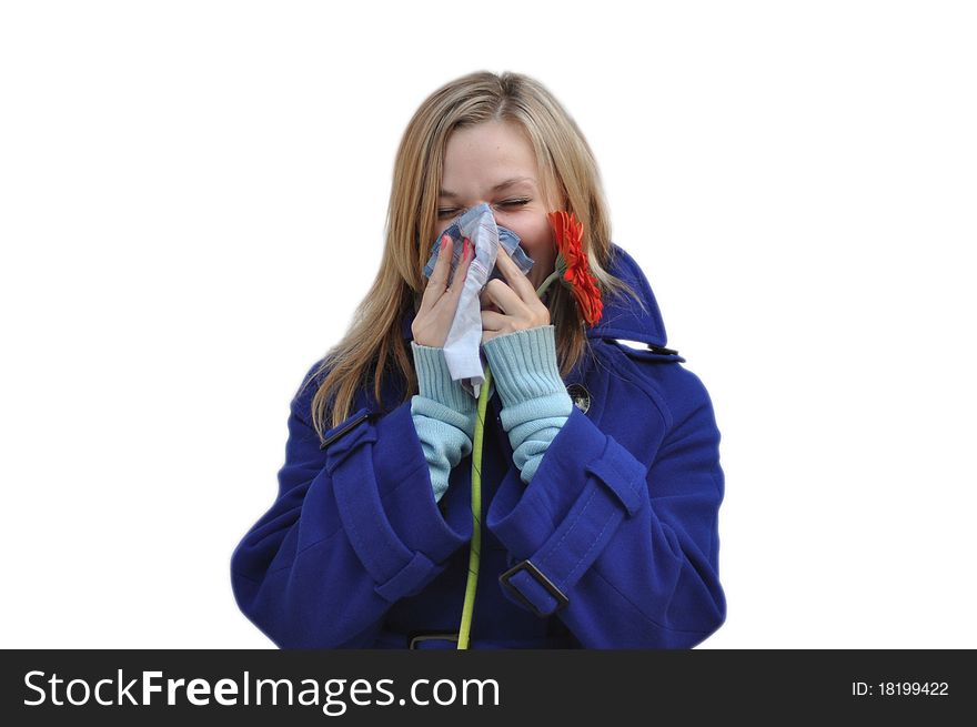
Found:
[[[664,347],[667,337],[662,312],[658,309],[655,294],[652,292],[652,286],[638,264],[624,249],[612,242],[611,261],[607,267],[613,275],[634,289],[647,310],[643,310],[629,295],[605,299],[603,315],[594,327],[587,329],[587,337],[622,339]],[[411,332],[413,321],[413,311],[407,311],[401,321],[404,339],[413,340],[414,336]]]

